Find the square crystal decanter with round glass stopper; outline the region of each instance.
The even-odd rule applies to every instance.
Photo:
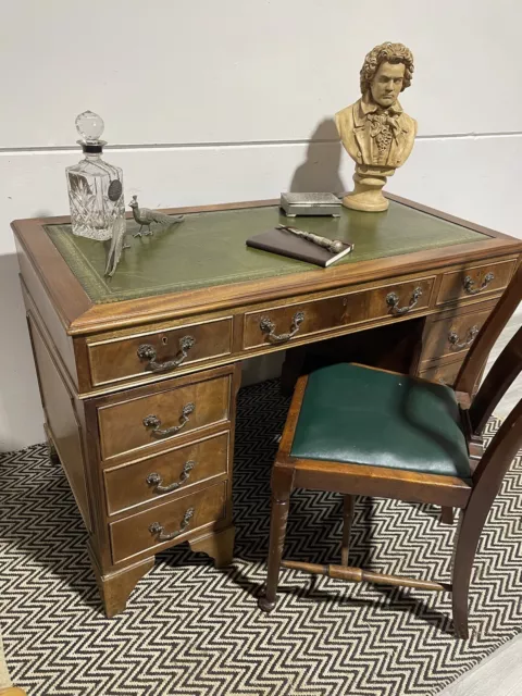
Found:
[[[65,170],[73,234],[103,241],[112,237],[114,222],[125,219],[123,173],[101,159],[104,140],[102,119],[84,111],[76,119],[85,158]]]

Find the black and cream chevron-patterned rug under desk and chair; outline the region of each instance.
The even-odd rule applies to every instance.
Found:
[[[182,545],[112,620],[60,467],[45,446],[0,456],[0,630],[16,684],[29,696],[430,696],[520,632],[522,457],[482,536],[470,641],[453,638],[447,596],[294,571],[282,573],[277,609],[261,613],[269,477],[287,408],[276,381],[240,391],[234,566],[214,570]],[[340,517],[340,496],[296,492],[286,558],[335,562]],[[359,498],[350,562],[447,581],[453,534],[428,506]]]

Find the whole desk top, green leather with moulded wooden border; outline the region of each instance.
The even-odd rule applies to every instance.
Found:
[[[286,220],[275,199],[165,209],[163,212],[170,215],[186,215],[183,239],[179,233],[173,238],[160,232],[154,245],[136,240],[145,249],[139,248],[135,256],[128,249],[114,278],[107,278],[103,273],[108,243],[74,237],[70,234],[69,216],[15,220],[12,228],[24,256],[37,263],[70,335],[132,326],[144,316],[149,321],[183,316],[208,310],[209,304],[225,309],[240,300],[254,301],[259,294],[285,298],[307,290],[386,278],[399,269],[406,273],[426,264],[434,268],[458,264],[463,252],[473,252],[478,260],[522,248],[522,241],[482,225],[389,192],[386,198],[391,206],[383,215],[343,209],[340,217],[307,217],[301,223],[332,239],[356,241],[356,251],[327,272],[245,247],[244,239],[252,231]],[[237,220],[227,220],[227,214]],[[133,229],[132,220],[127,220],[127,227]],[[224,239],[217,235],[224,235]],[[209,244],[202,246],[202,238]],[[231,244],[235,247],[232,261],[231,257],[223,259],[224,271],[215,268],[217,238],[220,248],[223,244],[228,249]],[[195,265],[184,262],[176,268],[179,248],[188,248],[190,253],[191,245],[199,247],[191,250]],[[157,272],[151,276],[150,266],[156,264],[157,271],[158,263],[174,281],[162,279]],[[196,275],[198,271],[206,274],[204,278],[195,281],[195,270]],[[210,287],[215,293],[209,303]]]

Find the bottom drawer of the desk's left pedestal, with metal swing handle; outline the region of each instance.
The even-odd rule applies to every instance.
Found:
[[[174,546],[191,532],[222,520],[226,485],[226,482],[220,483],[110,524],[113,562],[148,549],[157,554],[159,548]]]

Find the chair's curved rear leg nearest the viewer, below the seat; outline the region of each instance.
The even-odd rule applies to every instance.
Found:
[[[468,638],[469,591],[476,547],[482,534],[482,524],[465,511],[461,513],[453,551],[452,609],[457,637]]]

